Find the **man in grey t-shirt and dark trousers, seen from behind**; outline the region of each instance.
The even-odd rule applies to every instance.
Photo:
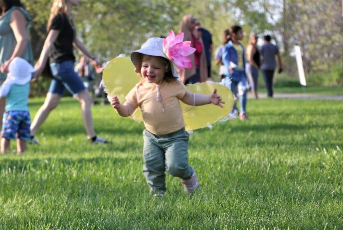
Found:
[[[264,44],[261,47],[261,57],[262,57],[262,74],[264,82],[266,84],[268,97],[273,97],[273,78],[276,67],[275,55],[278,57],[279,73],[283,71],[282,61],[279,53],[279,48],[270,42],[271,36],[265,35],[263,37]]]

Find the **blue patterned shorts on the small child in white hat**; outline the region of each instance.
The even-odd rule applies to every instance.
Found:
[[[1,137],[6,140],[20,139],[28,141],[31,118],[28,111],[8,111],[3,114]]]

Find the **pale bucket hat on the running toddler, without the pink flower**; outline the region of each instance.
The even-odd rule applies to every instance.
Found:
[[[143,54],[167,59],[170,63],[172,76],[178,78],[178,74],[176,72],[177,68],[163,52],[163,38],[149,38],[145,43],[143,43],[141,49],[131,53],[131,62],[135,65],[136,69],[142,61]]]

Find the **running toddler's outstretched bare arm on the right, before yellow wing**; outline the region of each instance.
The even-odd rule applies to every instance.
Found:
[[[212,103],[214,105],[223,107],[221,104],[225,103],[221,100],[220,95],[217,94],[217,89],[214,89],[211,95],[195,93],[195,96],[193,96],[192,92],[187,90],[183,98],[180,100],[187,105],[206,105]]]

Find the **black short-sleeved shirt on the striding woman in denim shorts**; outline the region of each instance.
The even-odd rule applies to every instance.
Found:
[[[70,24],[65,13],[58,13],[51,22],[50,29],[59,30],[56,41],[52,44],[49,54],[50,63],[71,60],[75,62],[73,41],[75,29]]]

